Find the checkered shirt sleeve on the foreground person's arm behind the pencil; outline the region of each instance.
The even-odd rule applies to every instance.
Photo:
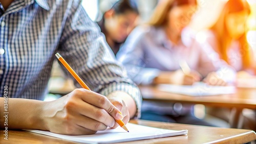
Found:
[[[58,46],[60,55],[93,91],[102,95],[114,91],[130,94],[137,105],[136,117],[139,117],[142,101],[140,91],[115,59],[97,24],[89,18],[80,1],[73,1],[66,15]],[[74,79],[65,67],[61,67],[67,76]],[[81,87],[75,79],[74,83]]]

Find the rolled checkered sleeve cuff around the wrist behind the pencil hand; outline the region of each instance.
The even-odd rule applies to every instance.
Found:
[[[127,94],[131,95],[131,97],[134,99],[136,103],[136,113],[133,118],[140,118],[141,116],[141,103],[142,103],[142,97],[140,90],[137,86],[129,84],[129,83],[111,83],[107,88],[104,88],[100,91],[100,94],[102,95],[109,95],[110,93],[114,91],[123,91]]]

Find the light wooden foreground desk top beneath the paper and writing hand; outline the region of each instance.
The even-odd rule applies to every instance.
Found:
[[[132,120],[130,122],[144,126],[172,130],[187,129],[188,135],[130,141],[123,143],[246,143],[256,139],[256,134],[252,130],[160,123],[143,120]],[[9,130],[8,140],[4,139],[3,130],[1,130],[0,134],[0,143],[76,143],[60,138],[50,137],[22,130]]]

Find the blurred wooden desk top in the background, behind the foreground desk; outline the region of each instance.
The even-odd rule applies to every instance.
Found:
[[[237,88],[234,94],[192,97],[164,92],[156,86],[139,86],[143,100],[203,104],[217,107],[236,107],[256,109],[256,88]]]

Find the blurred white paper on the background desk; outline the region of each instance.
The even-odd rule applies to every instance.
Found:
[[[195,83],[194,85],[159,84],[158,89],[190,96],[220,95],[236,92],[235,86],[211,86],[202,82]]]

